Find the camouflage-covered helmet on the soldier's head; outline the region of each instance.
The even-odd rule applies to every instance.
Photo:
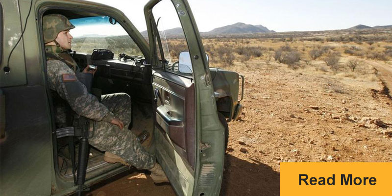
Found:
[[[59,32],[75,27],[67,17],[61,14],[49,14],[44,16],[42,18],[42,26],[44,29],[45,44],[54,41]]]

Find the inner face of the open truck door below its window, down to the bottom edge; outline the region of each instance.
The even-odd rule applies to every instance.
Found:
[[[153,74],[156,92],[156,151],[178,195],[192,195],[195,168],[194,84],[167,72]],[[185,112],[189,111],[189,112]]]

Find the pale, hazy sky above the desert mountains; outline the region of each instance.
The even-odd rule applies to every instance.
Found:
[[[90,0],[116,7],[139,31],[147,0]],[[392,25],[392,0],[188,0],[199,31],[238,22],[277,32]],[[166,29],[177,27],[166,24]]]

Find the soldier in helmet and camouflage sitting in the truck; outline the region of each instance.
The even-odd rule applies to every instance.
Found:
[[[106,151],[105,161],[147,169],[155,183],[169,182],[155,157],[127,130],[131,121],[130,97],[125,93],[116,93],[102,96],[99,102],[76,78],[78,66],[67,52],[73,40],[70,29],[74,27],[60,14],[43,17],[48,85],[54,92],[56,125],[61,127],[66,122],[65,104],[69,104],[78,115],[97,121],[94,137],[89,144]],[[83,73],[95,73],[87,70],[87,67]]]

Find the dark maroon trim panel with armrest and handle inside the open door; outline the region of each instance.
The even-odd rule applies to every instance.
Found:
[[[189,78],[168,72],[155,72],[153,89],[158,89],[156,122],[168,136],[176,151],[195,168],[195,98],[194,84]],[[186,112],[188,111],[188,112]]]

